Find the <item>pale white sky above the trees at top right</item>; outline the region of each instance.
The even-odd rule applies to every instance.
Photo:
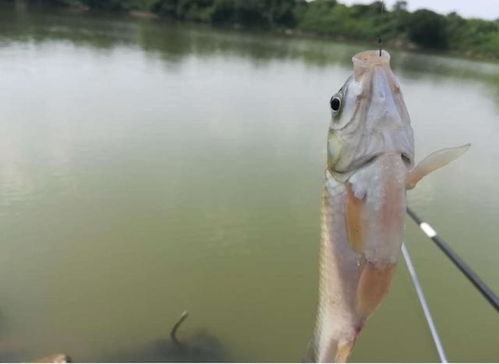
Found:
[[[339,0],[344,4],[370,4],[374,0]],[[384,0],[391,9],[396,0]],[[414,11],[421,8],[431,9],[437,13],[447,14],[456,11],[465,18],[483,18],[494,20],[499,18],[499,0],[407,0],[408,8]]]

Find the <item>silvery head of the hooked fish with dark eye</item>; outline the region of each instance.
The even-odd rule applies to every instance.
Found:
[[[328,170],[344,182],[385,153],[413,165],[414,137],[400,85],[386,51],[364,51],[353,58],[353,74],[331,97]]]

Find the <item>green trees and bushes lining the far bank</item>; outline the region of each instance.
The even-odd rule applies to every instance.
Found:
[[[44,2],[44,0],[32,0]],[[266,27],[405,48],[450,50],[499,58],[499,19],[465,19],[457,13],[409,12],[407,1],[386,9],[380,1],[346,6],[336,0],[45,0],[91,9],[143,10],[181,21]]]

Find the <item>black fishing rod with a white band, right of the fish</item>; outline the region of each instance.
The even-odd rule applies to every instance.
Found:
[[[430,224],[423,221],[410,207],[407,207],[407,214],[414,220],[419,228],[428,236],[440,250],[454,263],[454,265],[468,278],[482,296],[499,312],[499,297],[488,287],[482,279],[464,262],[459,255],[454,252],[449,244],[438,236],[437,232]]]

